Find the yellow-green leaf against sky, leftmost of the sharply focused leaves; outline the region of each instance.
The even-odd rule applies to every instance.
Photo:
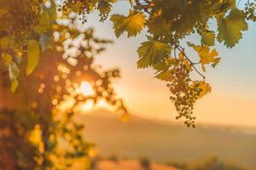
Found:
[[[142,12],[130,10],[128,16],[122,14],[113,14],[110,18],[113,22],[113,29],[116,37],[119,37],[125,31],[128,32],[128,37],[136,36],[137,33],[143,30],[145,26],[145,15]]]

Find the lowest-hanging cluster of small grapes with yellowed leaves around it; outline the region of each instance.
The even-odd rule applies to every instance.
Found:
[[[167,88],[172,94],[170,99],[178,113],[176,119],[184,118],[187,127],[195,127],[195,116],[193,116],[195,102],[203,95],[210,93],[211,87],[205,81],[195,81],[190,78],[190,74],[197,70],[195,63],[188,58],[183,48],[175,47],[173,54],[173,58],[163,61],[167,63],[165,70],[157,78],[168,82]],[[160,67],[154,69],[161,71]]]

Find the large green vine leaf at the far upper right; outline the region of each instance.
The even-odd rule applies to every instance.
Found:
[[[227,48],[232,48],[242,37],[241,31],[247,30],[246,16],[238,8],[230,11],[230,14],[218,17],[218,42],[223,42]]]

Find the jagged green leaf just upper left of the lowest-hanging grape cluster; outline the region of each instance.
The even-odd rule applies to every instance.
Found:
[[[137,54],[140,58],[137,61],[138,68],[146,68],[159,63],[166,59],[172,50],[166,43],[155,41],[150,37],[148,37],[147,42],[141,44],[142,46],[137,49]]]

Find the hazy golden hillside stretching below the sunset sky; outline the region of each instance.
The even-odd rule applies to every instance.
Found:
[[[256,169],[256,134],[245,129],[150,121],[131,116],[120,122],[108,111],[77,117],[85,125],[84,137],[96,144],[102,156],[147,157],[152,161],[195,161],[218,156]],[[255,129],[254,129],[255,130]],[[250,132],[256,132],[250,129]]]

